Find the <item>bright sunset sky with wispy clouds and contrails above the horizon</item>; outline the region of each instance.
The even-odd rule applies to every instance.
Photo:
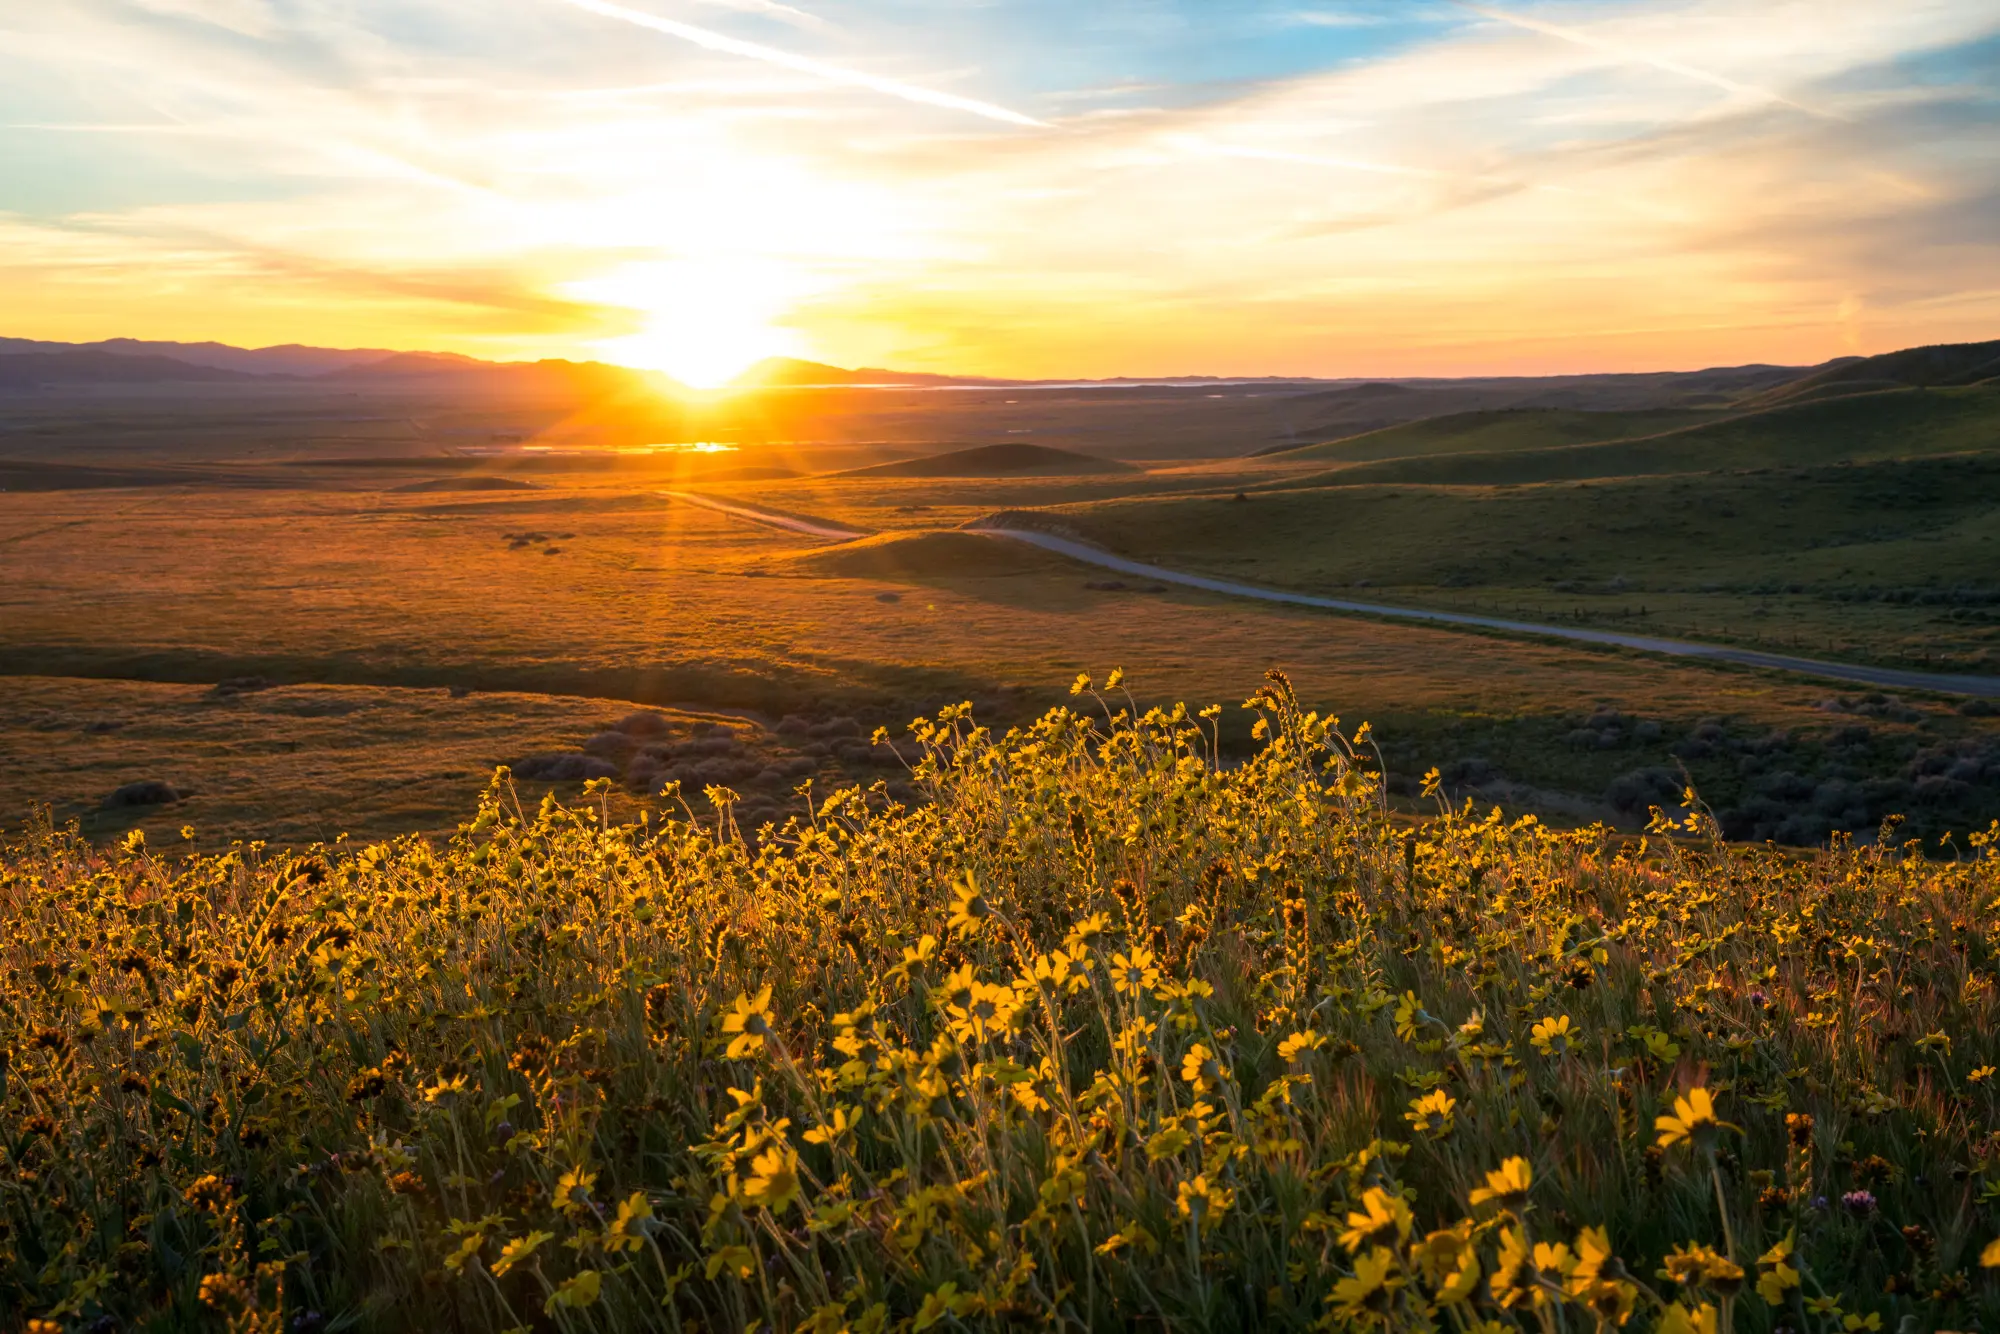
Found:
[[[0,0],[0,334],[696,384],[2000,338],[2000,6]]]

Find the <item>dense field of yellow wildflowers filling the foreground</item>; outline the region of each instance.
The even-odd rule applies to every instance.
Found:
[[[1250,708],[748,836],[30,830],[0,1328],[2000,1328],[2000,828],[1410,824]]]

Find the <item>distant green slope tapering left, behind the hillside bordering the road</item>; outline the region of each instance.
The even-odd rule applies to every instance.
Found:
[[[2000,386],[1884,390],[1780,406],[1642,440],[1420,454],[1360,464],[1342,482],[1496,486],[1720,468],[1798,468],[2000,448]]]

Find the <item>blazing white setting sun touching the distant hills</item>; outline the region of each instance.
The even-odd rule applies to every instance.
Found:
[[[798,282],[768,262],[740,258],[628,264],[570,286],[584,300],[622,308],[638,330],[596,348],[622,366],[664,370],[694,388],[722,388],[766,356],[794,356],[798,334],[780,320]]]

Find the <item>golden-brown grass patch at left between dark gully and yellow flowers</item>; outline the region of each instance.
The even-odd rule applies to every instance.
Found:
[[[140,830],[206,850],[448,834],[466,794],[508,764],[528,800],[620,780],[604,798],[614,820],[678,808],[658,798],[670,778],[700,810],[706,784],[730,784],[756,830],[806,780],[904,792],[894,752],[866,736],[840,714],[760,722],[564,694],[16,676],[0,700],[0,824],[46,808],[100,842]]]

